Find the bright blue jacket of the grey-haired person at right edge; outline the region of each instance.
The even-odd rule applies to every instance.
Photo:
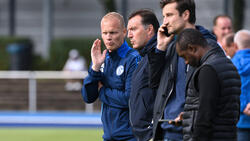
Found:
[[[241,79],[240,120],[238,128],[250,129],[250,116],[243,114],[246,105],[250,102],[250,49],[239,50],[232,58]]]

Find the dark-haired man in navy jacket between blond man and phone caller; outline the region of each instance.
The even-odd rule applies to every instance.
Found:
[[[134,71],[130,94],[130,122],[138,141],[152,138],[153,106],[156,90],[149,88],[147,54],[156,46],[159,22],[149,9],[133,12],[128,20],[128,38],[142,60]]]

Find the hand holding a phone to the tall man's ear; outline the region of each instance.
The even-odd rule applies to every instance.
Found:
[[[169,37],[167,37],[164,34],[164,28],[166,28],[166,25],[161,25],[157,33],[157,49],[161,51],[165,51],[167,49],[167,45],[174,37],[174,34],[171,34]]]

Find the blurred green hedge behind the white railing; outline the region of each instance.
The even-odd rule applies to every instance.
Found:
[[[77,49],[80,55],[86,59],[86,63],[89,66],[91,62],[90,50],[95,39],[96,38],[54,39],[51,42],[48,60],[43,59],[40,55],[32,54],[31,70],[62,70],[71,49]],[[0,70],[8,70],[10,68],[10,58],[6,48],[8,44],[11,43],[30,44],[31,40],[21,37],[0,37]],[[103,43],[102,49],[104,49]]]

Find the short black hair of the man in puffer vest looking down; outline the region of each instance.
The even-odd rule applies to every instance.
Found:
[[[203,48],[208,46],[206,39],[196,29],[187,28],[184,29],[177,37],[176,43],[181,50],[186,50],[189,45],[198,45]]]

